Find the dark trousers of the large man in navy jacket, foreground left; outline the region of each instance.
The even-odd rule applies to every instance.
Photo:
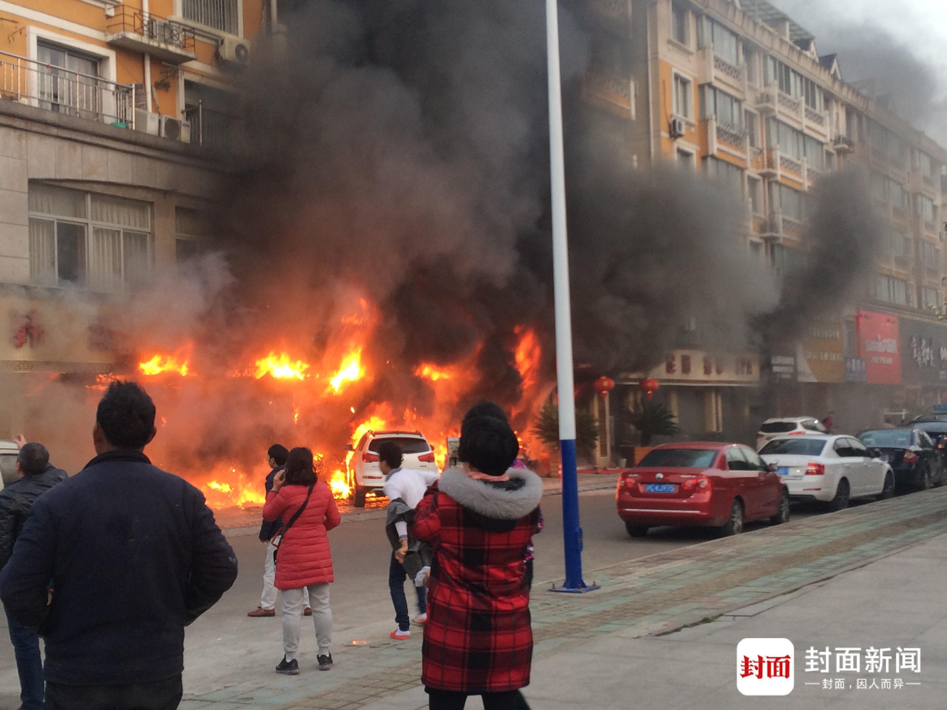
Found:
[[[46,710],[176,710],[182,694],[181,676],[131,685],[46,683]]]

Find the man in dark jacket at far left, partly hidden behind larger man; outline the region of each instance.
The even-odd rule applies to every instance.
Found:
[[[0,569],[7,564],[33,503],[66,478],[64,470],[49,463],[49,452],[42,444],[23,444],[16,457],[16,471],[20,480],[0,490]],[[21,710],[43,710],[45,687],[39,634],[17,621],[9,609],[6,612],[9,640],[20,676]]]

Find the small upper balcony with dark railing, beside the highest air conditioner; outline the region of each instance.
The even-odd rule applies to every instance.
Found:
[[[112,46],[148,53],[169,64],[197,59],[194,30],[173,20],[121,5],[107,29],[106,42]]]

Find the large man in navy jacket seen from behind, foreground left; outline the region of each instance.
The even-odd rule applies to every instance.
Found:
[[[33,504],[0,572],[4,605],[45,638],[46,710],[176,708],[184,628],[237,577],[201,491],[143,453],[155,433],[152,399],[112,382],[98,455]]]

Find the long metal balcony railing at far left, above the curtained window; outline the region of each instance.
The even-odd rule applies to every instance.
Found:
[[[134,87],[0,51],[0,98],[133,127]]]

